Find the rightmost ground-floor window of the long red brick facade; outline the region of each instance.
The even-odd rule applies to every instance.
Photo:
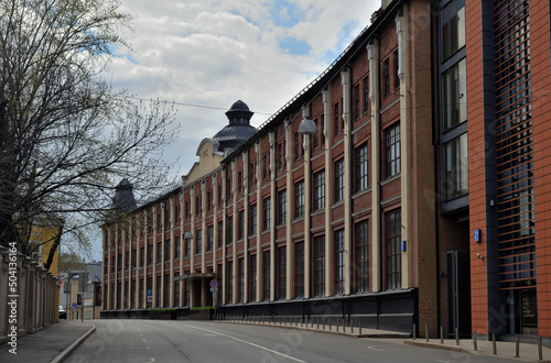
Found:
[[[387,289],[398,289],[402,286],[402,258],[400,251],[401,211],[393,210],[385,216],[386,255],[387,255]]]

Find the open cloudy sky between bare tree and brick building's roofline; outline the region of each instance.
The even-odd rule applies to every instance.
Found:
[[[242,100],[259,127],[370,24],[380,0],[121,0],[131,50],[109,65],[116,89],[176,102],[176,142],[163,153],[180,177],[197,146]],[[179,105],[183,103],[183,105]]]

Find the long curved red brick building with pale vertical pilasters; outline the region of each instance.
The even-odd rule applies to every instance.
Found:
[[[234,103],[181,187],[105,226],[102,316],[185,316],[217,279],[220,316],[435,334],[430,32],[428,1],[389,1],[258,130]]]

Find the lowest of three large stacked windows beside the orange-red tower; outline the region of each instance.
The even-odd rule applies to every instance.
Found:
[[[444,200],[468,194],[467,134],[444,144]]]

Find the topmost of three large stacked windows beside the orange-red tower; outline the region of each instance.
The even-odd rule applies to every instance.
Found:
[[[465,0],[452,0],[441,12],[442,61],[465,45]]]

